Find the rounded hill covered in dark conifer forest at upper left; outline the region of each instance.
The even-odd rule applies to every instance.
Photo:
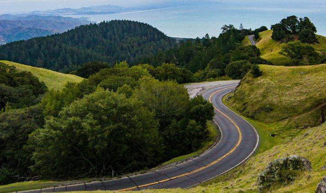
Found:
[[[99,60],[129,63],[175,45],[175,39],[142,22],[112,20],[77,27],[62,34],[17,41],[0,46],[0,59],[71,71]]]

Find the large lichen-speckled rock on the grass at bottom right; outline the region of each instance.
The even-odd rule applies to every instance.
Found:
[[[269,162],[265,170],[258,175],[258,191],[265,192],[277,185],[288,185],[302,171],[312,171],[310,161],[303,157],[290,156]]]

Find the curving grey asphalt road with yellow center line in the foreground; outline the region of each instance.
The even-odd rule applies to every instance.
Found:
[[[220,127],[222,138],[200,156],[146,174],[29,192],[189,188],[232,170],[254,153],[259,142],[256,130],[222,103],[222,97],[236,86],[231,82],[201,92],[215,108],[213,121]]]

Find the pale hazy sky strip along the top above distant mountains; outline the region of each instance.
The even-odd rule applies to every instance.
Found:
[[[80,8],[88,7],[92,5],[118,5],[124,7],[138,6],[138,5],[148,5],[153,3],[163,3],[167,1],[175,0],[0,0],[0,13],[13,13],[13,12],[30,12],[38,10],[47,9],[58,9],[58,8]],[[191,0],[183,0],[191,1]],[[326,5],[325,0],[211,0],[218,2],[241,2],[255,5],[255,3],[260,2],[264,4],[283,4],[286,2],[293,2],[293,6],[298,3],[306,4],[319,4]]]

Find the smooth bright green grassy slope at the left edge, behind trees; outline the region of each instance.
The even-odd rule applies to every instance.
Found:
[[[0,62],[3,62],[8,65],[16,66],[16,68],[19,70],[30,71],[34,76],[39,78],[41,82],[44,82],[49,89],[60,90],[64,87],[64,85],[67,82],[78,83],[83,80],[83,78],[75,75],[62,74],[44,68],[28,66],[24,64],[15,63],[15,62],[10,62],[10,61],[0,60]]]

